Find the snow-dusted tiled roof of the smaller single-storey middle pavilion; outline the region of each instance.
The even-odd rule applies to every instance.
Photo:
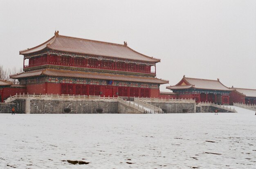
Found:
[[[232,90],[224,86],[219,79],[209,80],[209,79],[195,79],[183,76],[182,80],[175,86],[167,86],[167,89],[179,90],[179,89],[208,89],[208,90]]]

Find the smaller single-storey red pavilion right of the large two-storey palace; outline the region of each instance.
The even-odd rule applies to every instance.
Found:
[[[196,103],[211,102],[229,104],[232,89],[224,86],[220,80],[195,79],[183,76],[175,86],[168,86],[181,99],[195,99]]]

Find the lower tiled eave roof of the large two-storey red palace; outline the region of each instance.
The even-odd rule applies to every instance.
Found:
[[[136,81],[141,83],[157,83],[157,84],[166,84],[169,82],[167,80],[157,79],[154,77],[124,76],[124,75],[100,74],[100,73],[55,70],[55,69],[23,72],[17,75],[12,75],[11,78],[22,79],[26,77],[37,77],[37,76],[73,77],[73,78],[83,78],[83,79],[105,79],[105,80],[117,80],[117,81]]]

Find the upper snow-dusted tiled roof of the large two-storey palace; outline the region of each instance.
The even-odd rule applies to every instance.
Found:
[[[34,48],[28,48],[27,50],[21,50],[20,55],[27,55],[45,49],[85,55],[149,61],[154,63],[160,61],[160,59],[148,57],[136,52],[135,50],[132,50],[127,46],[126,42],[124,42],[124,44],[114,44],[96,40],[87,40],[77,37],[58,35],[58,31],[55,32],[55,35],[52,38],[43,44],[40,44]]]

